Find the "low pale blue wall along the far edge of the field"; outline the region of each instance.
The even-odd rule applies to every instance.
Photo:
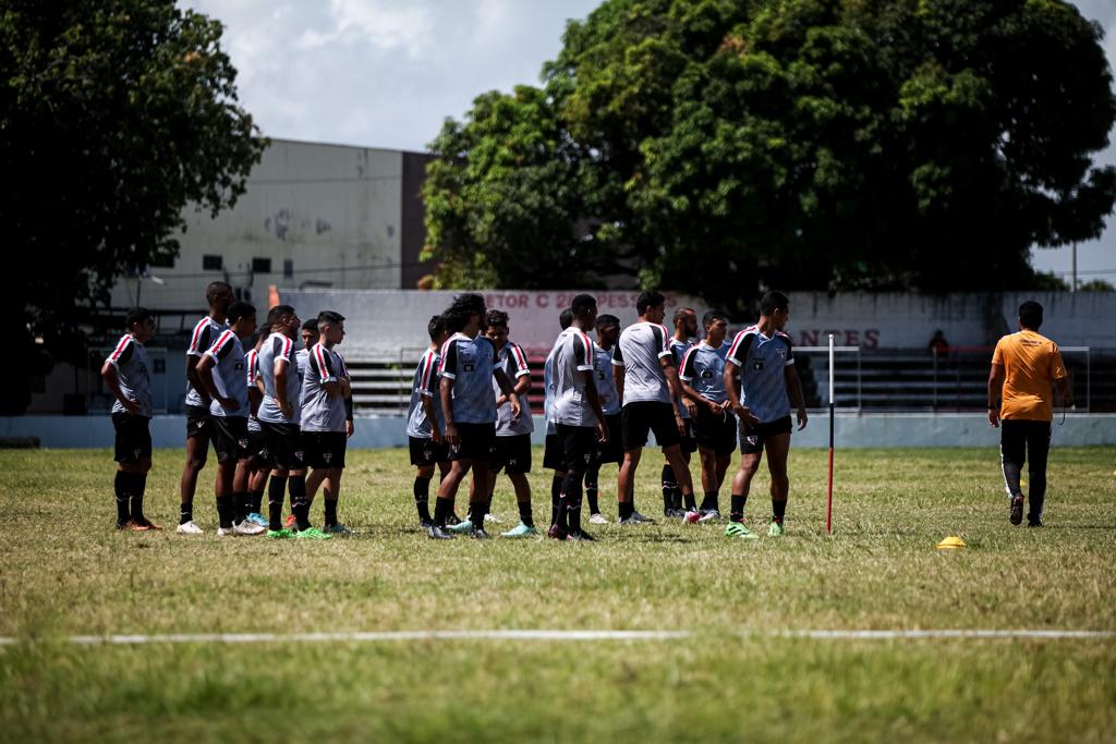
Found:
[[[1060,421],[1060,416],[1057,421]],[[829,428],[825,414],[815,414],[802,432],[793,434],[796,447],[827,447]],[[403,447],[407,444],[406,419],[401,416],[357,416],[355,448]],[[838,414],[835,422],[838,448],[866,447],[997,447],[999,431],[981,414]],[[184,446],[184,416],[155,416],[151,433],[155,447]],[[542,444],[546,426],[535,417],[535,443]],[[113,446],[108,416],[0,417],[0,438],[36,436],[48,448]],[[1116,415],[1069,414],[1054,426],[1052,445],[1116,445]]]

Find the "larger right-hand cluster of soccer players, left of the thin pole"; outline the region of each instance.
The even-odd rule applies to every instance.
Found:
[[[664,516],[686,522],[721,519],[719,494],[739,437],[741,460],[725,534],[757,538],[744,524],[744,506],[764,453],[772,512],[767,533],[783,534],[791,414],[799,429],[807,424],[790,337],[783,332],[787,297],[768,292],[760,301],[759,321],[731,342],[723,312],[706,312],[696,338],[693,309],[674,313],[673,334],[662,325],[665,298],[658,292],[639,294],[636,309],[638,320],[623,329],[615,316],[598,316],[591,294],[578,294],[559,315],[560,334],[543,365],[542,465],[554,471],[547,534],[594,540],[583,524],[583,501],[588,501],[588,523],[607,522],[600,512],[599,473],[614,463],[619,524],[653,522],[635,509],[635,475],[650,433],[665,460]],[[485,520],[492,519],[493,492],[503,471],[514,489],[519,523],[502,537],[539,534],[526,477],[533,432],[527,405],[530,369],[522,347],[509,340],[508,315],[488,310],[480,294],[460,294],[430,320],[429,335],[407,416],[422,526],[432,539],[488,539]],[[700,504],[690,473],[694,452],[701,464]],[[435,467],[441,480],[431,514]],[[459,519],[455,499],[470,471],[469,513]]]

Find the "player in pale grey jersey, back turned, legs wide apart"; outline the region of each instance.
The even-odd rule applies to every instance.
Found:
[[[613,354],[613,375],[624,406],[620,412],[624,464],[616,480],[620,524],[654,521],[635,511],[635,473],[648,431],[655,433],[683,497],[689,494],[693,499],[690,466],[682,458],[680,446],[686,424],[679,409],[682,395],[679,374],[673,364],[670,335],[662,325],[665,302],[666,298],[658,292],[642,292],[636,298],[639,321],[620,332]]]

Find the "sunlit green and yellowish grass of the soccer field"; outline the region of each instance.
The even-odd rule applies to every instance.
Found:
[[[173,528],[182,454],[147,513]],[[531,476],[549,518],[549,473]],[[661,512],[657,457],[637,504]],[[434,542],[406,453],[349,454],[326,543],[112,529],[107,451],[0,452],[0,741],[1113,741],[1116,639],[848,640],[809,629],[1116,630],[1116,448],[1055,448],[1047,526],[1007,519],[993,450],[791,452],[788,534],[596,528]],[[603,484],[608,480],[602,477]],[[767,480],[749,502],[766,521]],[[461,499],[463,502],[463,499]],[[603,499],[615,518],[612,493]],[[722,506],[728,505],[727,492]],[[514,523],[509,484],[493,511]],[[315,506],[320,519],[320,505]],[[956,534],[962,551],[934,544]],[[667,640],[74,646],[71,635],[685,630]]]

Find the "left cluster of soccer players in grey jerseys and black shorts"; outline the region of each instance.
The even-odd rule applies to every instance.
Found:
[[[278,305],[258,329],[256,308],[235,300],[228,283],[212,282],[205,299],[209,315],[194,326],[186,350],[186,463],[176,532],[203,532],[194,522],[193,501],[212,444],[218,535],[328,540],[348,533],[337,519],[345,450],[354,431],[349,374],[336,350],[345,338],[345,318],[325,310],[301,322],[292,307]],[[151,363],[144,344],[155,332],[155,320],[136,308],[125,325],[127,332],[102,367],[115,397],[116,526],[160,530],[143,512],[152,454]],[[246,352],[257,330],[258,341]],[[302,349],[296,351],[299,336]],[[310,523],[319,487],[321,529]],[[288,491],[291,514],[285,520]]]

